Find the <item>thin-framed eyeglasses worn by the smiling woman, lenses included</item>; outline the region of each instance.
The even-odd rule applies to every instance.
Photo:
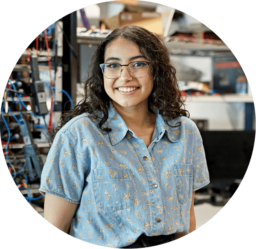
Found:
[[[123,68],[122,66],[128,67],[128,72],[130,76],[134,78],[140,78],[148,73],[148,65],[150,62],[130,62],[127,65],[121,65],[119,63],[104,63],[100,64],[102,68],[102,73],[108,79],[117,79],[121,76]]]

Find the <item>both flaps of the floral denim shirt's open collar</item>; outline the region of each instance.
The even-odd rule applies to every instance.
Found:
[[[159,141],[164,134],[168,137],[168,139],[175,143],[181,139],[181,133],[179,132],[179,127],[172,128],[171,126],[177,125],[176,123],[179,122],[177,119],[167,121],[163,119],[163,116],[159,114],[159,110],[155,108],[154,106],[150,106],[151,110],[156,115],[156,133],[155,137],[153,137],[153,141]],[[112,129],[112,131],[109,132],[110,141],[112,145],[117,144],[120,142],[126,135],[127,131],[130,131],[134,136],[136,136],[132,130],[125,124],[122,117],[118,114],[116,111],[116,108],[114,108],[112,102],[110,103],[110,107],[108,109],[108,127]]]

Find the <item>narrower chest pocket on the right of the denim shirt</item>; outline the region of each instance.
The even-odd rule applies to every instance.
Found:
[[[174,164],[175,179],[177,184],[177,195],[179,203],[182,205],[189,199],[192,185],[192,166],[191,164]]]

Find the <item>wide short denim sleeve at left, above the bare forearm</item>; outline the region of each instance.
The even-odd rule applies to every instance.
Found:
[[[63,131],[59,131],[47,155],[39,191],[79,204],[83,185],[84,165],[75,145]]]

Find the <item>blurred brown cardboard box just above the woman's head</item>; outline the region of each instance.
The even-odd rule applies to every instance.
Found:
[[[158,35],[163,34],[161,14],[156,12],[121,12],[117,16],[103,19],[102,22],[106,25],[106,28],[110,30],[127,25],[136,25],[146,28],[148,31]]]

